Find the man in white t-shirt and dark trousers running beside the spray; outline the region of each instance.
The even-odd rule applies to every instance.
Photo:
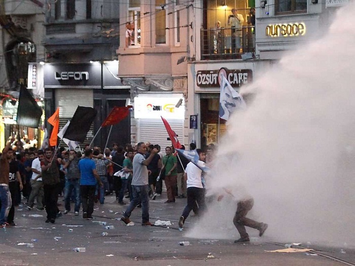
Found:
[[[202,149],[196,149],[197,154],[199,156],[199,163],[204,164],[204,160],[206,159],[206,155]],[[179,219],[179,227],[183,228],[184,222],[186,218],[189,216],[191,210],[193,210],[196,206],[196,202],[198,204],[199,212],[203,212],[206,209],[206,203],[204,200],[204,188],[202,184],[202,170],[198,168],[193,163],[188,163],[184,173],[184,180],[186,180],[187,184],[187,205],[183,211],[183,214]]]

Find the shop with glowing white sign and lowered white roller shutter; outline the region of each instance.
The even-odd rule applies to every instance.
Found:
[[[159,144],[162,150],[166,146],[171,146],[161,117],[169,122],[172,130],[183,143],[185,118],[183,93],[139,93],[134,98],[136,141]]]

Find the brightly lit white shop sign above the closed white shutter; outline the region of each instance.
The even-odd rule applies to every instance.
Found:
[[[184,119],[184,99],[180,107],[175,105],[181,97],[135,97],[134,118]]]

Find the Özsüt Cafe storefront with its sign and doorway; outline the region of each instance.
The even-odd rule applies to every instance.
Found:
[[[216,145],[227,130],[227,121],[219,119],[221,74],[242,94],[242,87],[252,83],[269,65],[270,61],[267,60],[191,64],[193,71],[188,76],[187,110],[188,117],[197,116],[198,123],[197,127],[189,128],[189,142],[195,141],[197,147],[202,148],[209,144]]]

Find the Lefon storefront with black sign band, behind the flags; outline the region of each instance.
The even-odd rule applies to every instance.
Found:
[[[46,120],[59,109],[60,127],[72,119],[78,105],[93,107],[97,116],[83,144],[89,144],[102,121],[114,106],[125,106],[130,97],[129,87],[123,86],[114,74],[118,62],[94,62],[79,64],[47,63],[44,66]],[[47,127],[49,125],[47,124]],[[102,128],[94,139],[94,145],[104,147],[110,127]],[[130,141],[130,118],[114,125],[108,147],[113,142],[121,145]],[[65,145],[65,144],[64,144]]]

